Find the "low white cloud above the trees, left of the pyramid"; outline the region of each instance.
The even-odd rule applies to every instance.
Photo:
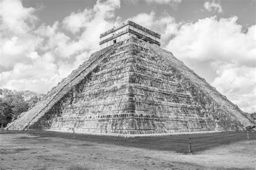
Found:
[[[1,85],[16,90],[45,92],[56,85],[59,79],[57,66],[50,53],[33,59],[31,64],[16,63],[14,69],[0,74]]]

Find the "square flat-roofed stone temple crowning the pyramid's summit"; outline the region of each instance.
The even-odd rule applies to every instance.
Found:
[[[155,44],[160,46],[160,34],[153,32],[145,27],[133,23],[128,20],[122,25],[115,26],[112,29],[100,34],[100,48],[105,48],[116,42],[123,41],[129,37],[137,37],[143,39],[150,44]]]

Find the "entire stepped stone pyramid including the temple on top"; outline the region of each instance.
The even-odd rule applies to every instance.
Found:
[[[131,21],[100,34],[102,49],[6,129],[150,134],[255,126],[159,41]]]

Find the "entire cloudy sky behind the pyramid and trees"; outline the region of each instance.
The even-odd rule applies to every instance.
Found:
[[[255,0],[2,0],[0,88],[47,93],[126,20],[245,112],[256,111]]]

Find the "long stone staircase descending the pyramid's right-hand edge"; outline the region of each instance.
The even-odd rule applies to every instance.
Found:
[[[181,75],[186,77],[186,79],[189,80],[194,86],[199,88],[203,94],[208,96],[211,101],[218,105],[220,110],[223,111],[224,115],[230,117],[235,123],[240,124],[244,130],[246,127],[252,127],[255,125],[252,119],[245,112],[241,111],[237,105],[229,101],[226,96],[219,93],[219,91],[194,73],[193,70],[184,65],[184,63],[173,56],[171,52],[154,46],[146,46],[150,48],[150,53],[153,55],[161,56],[161,58],[163,58],[165,61],[172,63],[172,66],[175,67]]]

